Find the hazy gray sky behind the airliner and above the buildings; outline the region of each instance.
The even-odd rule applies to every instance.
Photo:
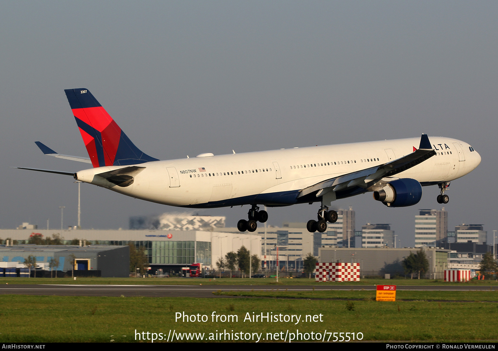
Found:
[[[0,4],[0,227],[76,224],[87,156],[64,94],[88,88],[128,137],[159,159],[368,140],[447,136],[481,154],[452,182],[449,229],[498,229],[496,1],[3,1]],[[353,205],[357,230],[392,223],[412,246],[419,204]],[[318,205],[272,208],[268,223],[307,221]],[[82,185],[83,228],[177,208]],[[199,210],[230,226],[248,207]],[[72,238],[68,238],[72,239]]]

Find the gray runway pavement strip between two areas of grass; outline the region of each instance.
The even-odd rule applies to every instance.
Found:
[[[312,291],[315,290],[375,290],[375,285],[76,285],[76,284],[4,284],[0,294],[16,295],[59,295],[59,296],[149,296],[149,297],[210,297],[213,291]],[[498,286],[459,286],[459,285],[397,285],[397,290],[444,290],[472,291],[498,290]]]

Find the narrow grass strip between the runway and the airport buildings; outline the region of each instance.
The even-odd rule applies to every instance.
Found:
[[[465,283],[445,282],[443,279],[361,279],[360,281],[315,281],[299,278],[5,278],[0,277],[0,284],[150,284],[150,285],[498,285],[497,280],[476,280]]]

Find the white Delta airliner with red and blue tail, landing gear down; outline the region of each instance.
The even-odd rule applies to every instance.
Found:
[[[420,201],[422,186],[438,185],[439,203],[448,203],[450,181],[474,170],[481,156],[469,144],[443,137],[371,141],[159,161],[140,151],[88,89],[67,89],[90,158],[57,154],[36,142],[45,155],[91,163],[71,175],[124,195],[171,206],[212,208],[251,205],[241,232],[253,232],[268,214],[258,205],[289,206],[320,202],[310,232],[324,232],[337,221],[332,201],[373,192],[388,207]],[[418,148],[416,148],[418,146]],[[19,167],[21,168],[21,167]]]

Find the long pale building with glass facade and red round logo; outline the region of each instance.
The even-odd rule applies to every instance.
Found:
[[[43,238],[60,235],[65,245],[81,245],[90,248],[99,245],[126,246],[129,243],[137,249],[145,248],[152,272],[161,268],[164,272],[180,272],[181,267],[191,263],[203,263],[208,267],[216,267],[216,261],[228,252],[239,250],[245,246],[251,254],[260,254],[261,237],[245,233],[211,232],[197,230],[40,230]],[[27,244],[33,230],[1,229],[3,242],[10,239],[13,244]],[[70,239],[74,238],[74,239]],[[60,247],[54,245],[53,247]],[[41,256],[41,255],[38,255]],[[27,256],[26,256],[27,257]],[[24,260],[24,259],[22,259]],[[129,260],[128,260],[129,261]],[[40,261],[41,262],[41,261]],[[128,267],[129,268],[129,267]]]

